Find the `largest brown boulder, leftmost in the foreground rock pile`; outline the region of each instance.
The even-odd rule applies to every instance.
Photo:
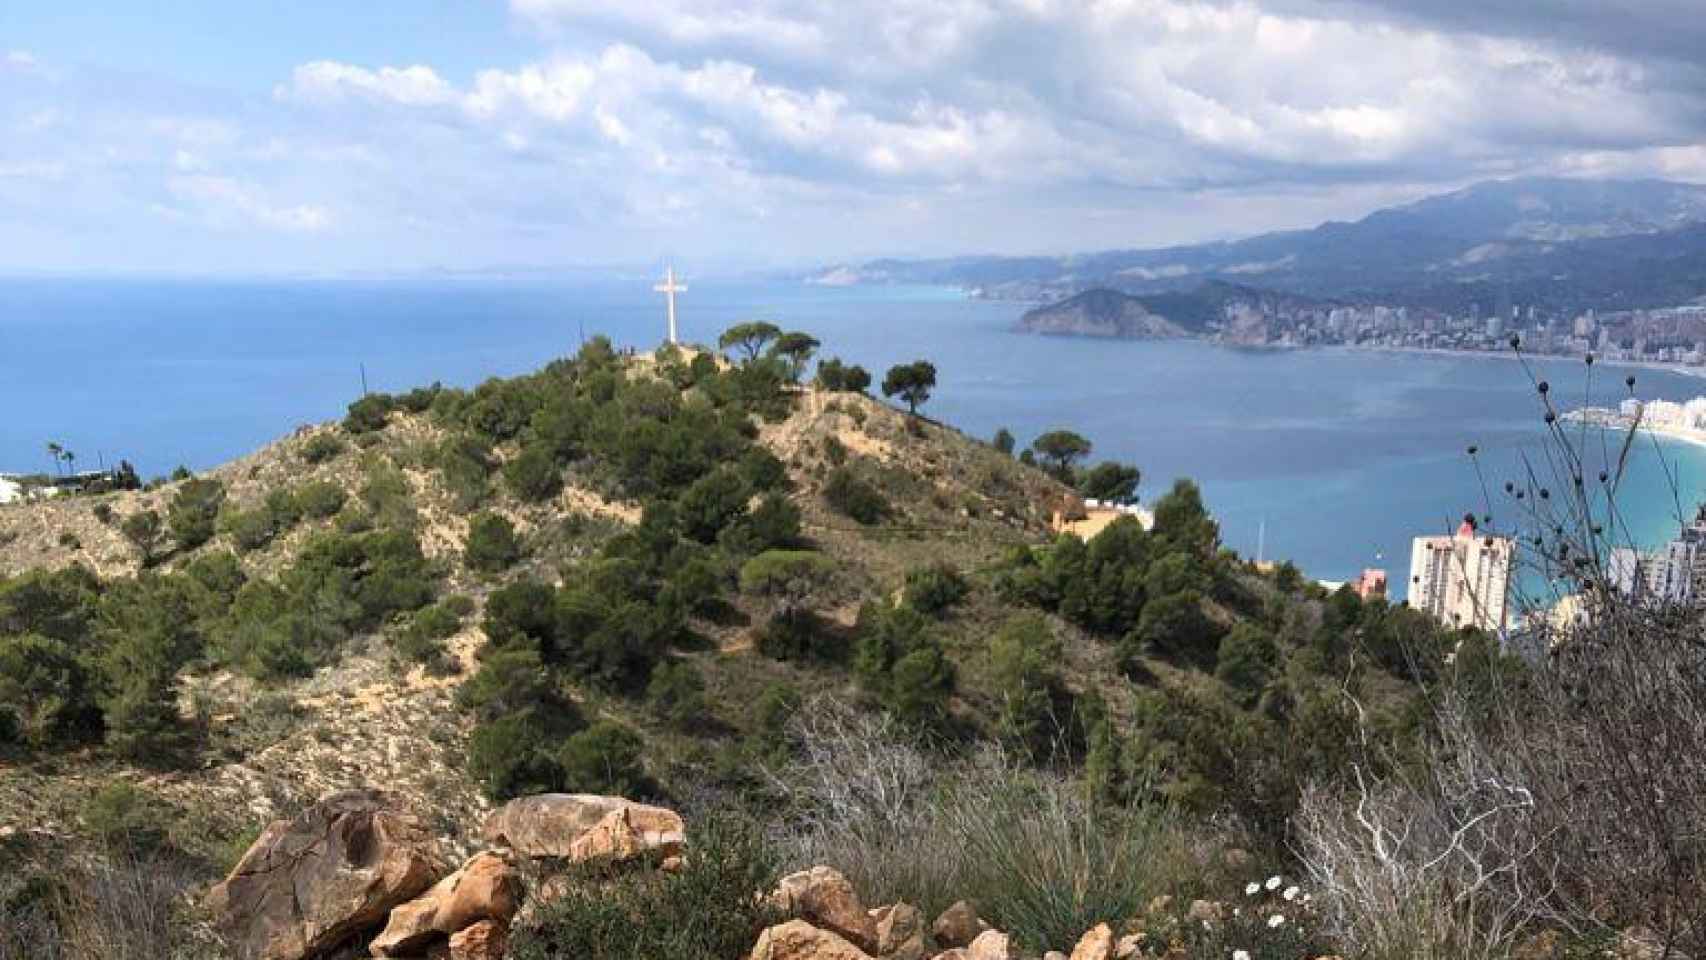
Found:
[[[351,789],[270,824],[205,905],[241,960],[304,960],[379,926],[438,871],[418,818]]]

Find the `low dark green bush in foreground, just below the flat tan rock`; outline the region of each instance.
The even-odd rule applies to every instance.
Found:
[[[711,817],[693,829],[681,873],[626,871],[568,883],[510,941],[515,960],[728,960],[780,922],[754,890],[776,885],[776,858],[749,822]]]

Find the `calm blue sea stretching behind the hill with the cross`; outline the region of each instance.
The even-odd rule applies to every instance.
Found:
[[[1239,552],[1320,580],[1385,568],[1399,595],[1413,537],[1464,513],[1508,523],[1520,505],[1503,484],[1549,476],[1535,380],[1563,408],[1616,404],[1631,375],[1643,399],[1706,394],[1687,373],[1580,360],[1042,338],[1015,329],[1025,309],[943,288],[781,281],[689,281],[679,300],[688,341],[764,319],[879,380],[930,360],[928,416],[984,438],[1005,426],[1022,445],[1076,430],[1092,459],[1143,471],[1145,501],[1194,479]],[[53,471],[49,442],[78,469],[203,469],[341,416],[363,387],[474,385],[595,334],[648,350],[664,329],[645,276],[0,280],[0,472]],[[1581,443],[1595,466],[1607,440],[1587,431]],[[1706,498],[1706,448],[1643,438],[1624,477],[1621,525],[1658,544]]]

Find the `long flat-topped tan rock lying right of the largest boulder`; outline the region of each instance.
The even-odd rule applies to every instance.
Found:
[[[541,793],[498,807],[481,830],[486,842],[527,858],[575,863],[681,856],[681,815],[621,796]]]

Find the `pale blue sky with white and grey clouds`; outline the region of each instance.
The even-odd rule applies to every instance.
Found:
[[[0,273],[1152,247],[1706,182],[1706,0],[5,0]]]

